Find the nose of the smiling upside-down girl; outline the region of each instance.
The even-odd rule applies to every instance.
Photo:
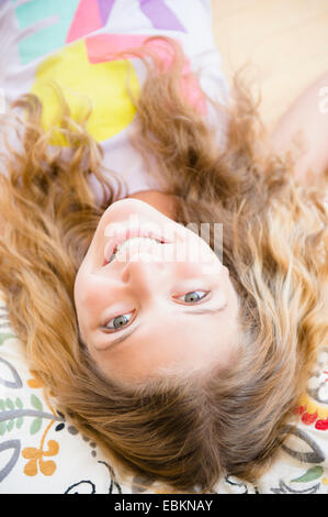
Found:
[[[168,275],[168,264],[163,261],[138,260],[124,265],[121,278],[132,288],[149,295],[155,288],[158,289],[160,285],[167,283]]]

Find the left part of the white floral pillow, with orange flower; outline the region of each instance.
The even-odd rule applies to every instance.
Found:
[[[0,494],[131,493],[95,443],[45,400],[0,300]]]

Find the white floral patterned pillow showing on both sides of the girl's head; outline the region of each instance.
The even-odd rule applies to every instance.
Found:
[[[255,484],[228,476],[217,493],[328,493],[328,349],[297,408],[299,425]],[[0,298],[0,494],[169,493],[120,479],[99,447],[54,410]],[[172,492],[172,491],[171,491]]]

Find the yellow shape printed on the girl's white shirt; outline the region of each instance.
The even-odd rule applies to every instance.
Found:
[[[118,59],[91,64],[84,41],[79,41],[38,65],[31,92],[43,103],[42,124],[45,130],[60,125],[60,97],[54,88],[57,85],[75,121],[81,122],[91,109],[86,128],[93,139],[103,142],[126,128],[135,116],[127,84],[137,98],[139,81],[131,62]],[[65,146],[67,140],[56,131],[50,143]]]

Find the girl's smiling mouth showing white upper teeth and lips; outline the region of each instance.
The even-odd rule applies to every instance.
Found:
[[[168,243],[166,239],[155,235],[151,232],[143,231],[142,229],[133,229],[125,231],[121,234],[113,237],[104,249],[104,264],[110,264],[118,256],[122,257],[123,252],[132,251],[149,251],[154,246]],[[126,256],[125,256],[126,257]]]

